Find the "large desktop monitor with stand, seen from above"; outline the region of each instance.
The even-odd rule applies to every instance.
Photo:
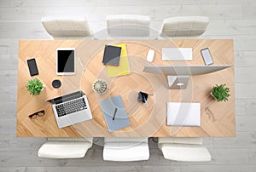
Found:
[[[189,76],[218,72],[230,66],[144,66],[143,72],[168,75],[167,79],[170,89],[186,89]]]

